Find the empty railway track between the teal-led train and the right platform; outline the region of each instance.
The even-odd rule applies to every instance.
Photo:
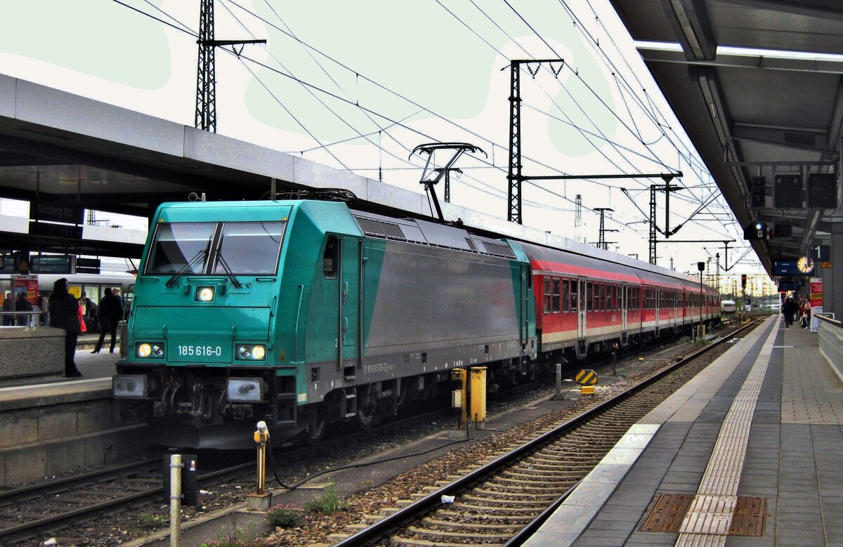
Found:
[[[697,357],[749,329],[738,329],[662,373],[618,394],[540,437],[479,462],[470,473],[440,481],[403,508],[368,517],[368,528],[335,547],[516,545],[615,446],[630,426],[700,372]],[[443,496],[454,496],[443,504]]]

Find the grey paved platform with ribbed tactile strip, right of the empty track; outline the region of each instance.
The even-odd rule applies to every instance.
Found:
[[[843,545],[841,424],[816,333],[772,316],[633,426],[525,545]]]

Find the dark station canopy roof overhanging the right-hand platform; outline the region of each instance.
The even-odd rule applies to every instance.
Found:
[[[838,195],[830,197],[834,206],[813,208],[807,191],[786,190],[787,175],[806,188],[810,174],[840,176],[843,57],[834,56],[843,56],[843,3],[610,1],[633,40],[681,46],[638,51],[742,228],[754,221],[771,228],[771,239],[752,242],[766,271],[828,243],[830,223],[843,222]],[[751,199],[759,177],[763,204]]]

